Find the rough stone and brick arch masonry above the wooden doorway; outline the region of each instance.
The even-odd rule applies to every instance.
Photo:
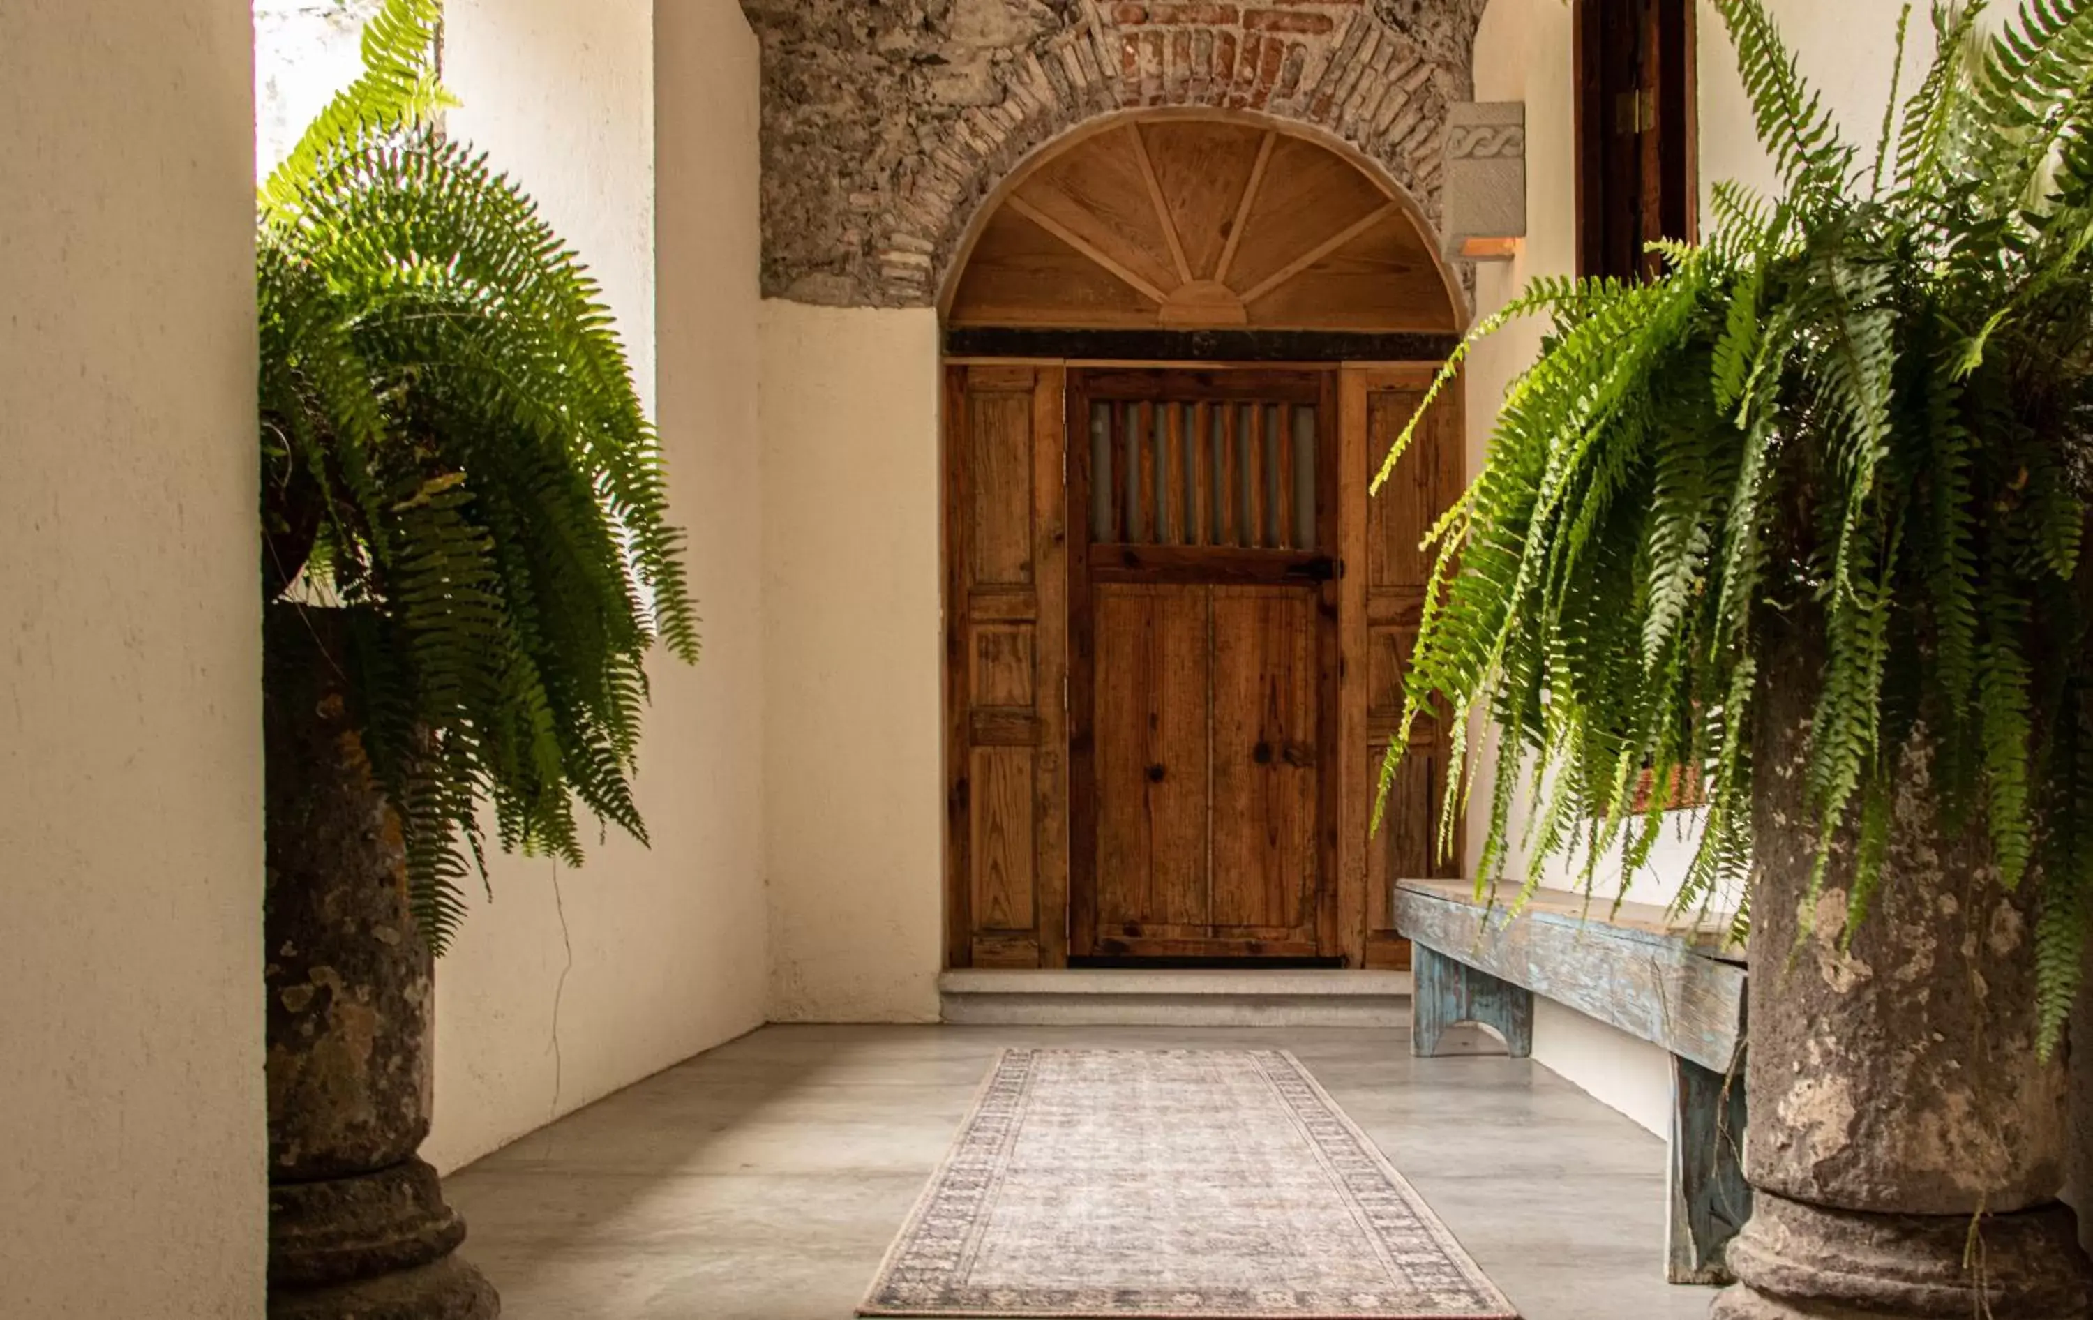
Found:
[[[1488,0],[743,0],[764,59],[764,295],[921,308],[1036,146],[1124,109],[1333,134],[1438,222]]]

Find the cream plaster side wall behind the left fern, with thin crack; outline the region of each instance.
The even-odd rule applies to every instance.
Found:
[[[659,69],[659,75],[657,75]],[[452,132],[584,255],[657,410],[703,661],[651,667],[653,847],[500,858],[437,969],[444,1169],[764,1021],[758,50],[735,0],[450,0]],[[659,180],[659,182],[657,182]]]

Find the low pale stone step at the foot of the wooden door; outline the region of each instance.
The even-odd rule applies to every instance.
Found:
[[[944,1021],[984,1027],[1406,1027],[1406,971],[948,971]]]

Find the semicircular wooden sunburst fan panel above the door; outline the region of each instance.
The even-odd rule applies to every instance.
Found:
[[[1411,209],[1344,155],[1241,121],[1153,119],[1040,161],[990,213],[957,326],[1448,333]]]

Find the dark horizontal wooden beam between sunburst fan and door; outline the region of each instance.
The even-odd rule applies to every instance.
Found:
[[[1455,335],[1350,331],[1061,331],[950,326],[948,358],[1057,362],[1444,362]]]

